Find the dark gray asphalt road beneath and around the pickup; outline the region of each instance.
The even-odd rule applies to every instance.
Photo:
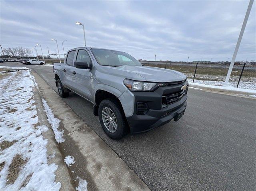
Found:
[[[52,67],[27,67],[57,91]],[[255,99],[189,89],[180,121],[119,141],[104,134],[90,102],[74,93],[64,101],[152,190],[256,190]]]

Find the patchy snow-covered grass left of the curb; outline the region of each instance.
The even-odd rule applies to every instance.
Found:
[[[2,68],[2,67],[1,67]],[[47,163],[29,70],[0,74],[0,190],[60,190]]]

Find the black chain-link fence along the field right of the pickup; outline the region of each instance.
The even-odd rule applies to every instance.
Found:
[[[230,63],[172,63],[141,62],[143,65],[172,69],[184,73],[189,82],[220,86],[226,79]],[[230,75],[234,87],[256,89],[256,63],[235,62]]]

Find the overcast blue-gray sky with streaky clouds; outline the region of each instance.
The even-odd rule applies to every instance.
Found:
[[[244,1],[0,0],[0,43],[55,53],[86,45],[125,51],[136,59],[229,61],[248,7]],[[38,54],[41,51],[38,48]],[[236,60],[256,60],[256,6]]]

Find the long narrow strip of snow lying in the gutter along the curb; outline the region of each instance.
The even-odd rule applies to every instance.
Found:
[[[59,131],[58,127],[60,124],[60,120],[56,117],[54,117],[54,114],[52,113],[51,108],[48,106],[46,100],[42,98],[43,106],[44,106],[44,112],[46,112],[48,122],[52,125],[52,130],[55,134],[55,139],[57,143],[63,143],[65,139],[63,138],[64,130]]]

